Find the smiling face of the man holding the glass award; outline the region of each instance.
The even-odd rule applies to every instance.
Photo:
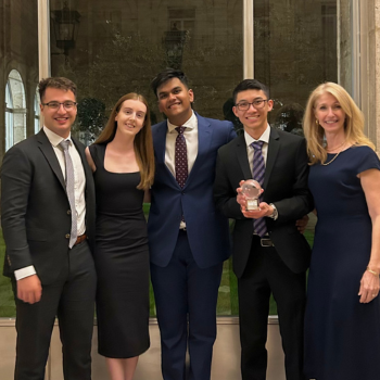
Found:
[[[232,111],[240,122],[244,126],[244,130],[254,139],[258,139],[265,131],[268,125],[268,112],[274,106],[273,100],[268,100],[263,90],[245,90],[238,92],[236,98],[236,104],[239,103],[253,103],[259,100],[264,101],[262,107],[255,109],[253,104],[249,105],[245,111],[240,111],[238,106],[233,106]]]

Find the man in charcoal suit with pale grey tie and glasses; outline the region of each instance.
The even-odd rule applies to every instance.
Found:
[[[94,187],[85,147],[71,135],[76,86],[39,83],[43,128],[4,155],[1,224],[4,275],[16,303],[15,380],[42,380],[59,319],[66,380],[91,379],[97,276]]]

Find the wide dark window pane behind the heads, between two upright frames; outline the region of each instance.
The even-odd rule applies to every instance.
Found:
[[[79,20],[71,41],[56,24],[62,2],[50,1],[52,75],[67,76],[78,85],[76,131],[85,142],[99,135],[114,103],[131,91],[145,96],[153,124],[162,121],[150,83],[168,66],[188,75],[195,111],[206,117],[231,117],[229,99],[243,75],[242,1],[78,0],[69,4],[72,26]],[[231,314],[231,276],[227,262],[220,314]],[[153,303],[151,312],[154,315]]]

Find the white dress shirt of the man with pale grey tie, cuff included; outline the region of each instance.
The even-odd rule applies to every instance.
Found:
[[[84,166],[80,160],[80,155],[78,151],[76,150],[72,139],[71,135],[64,139],[61,136],[54,134],[49,128],[43,127],[43,131],[47,135],[54,153],[56,155],[56,159],[60,163],[63,178],[66,177],[66,165],[65,165],[65,157],[63,153],[63,149],[60,145],[60,142],[63,140],[68,140],[68,153],[73,161],[74,166],[74,197],[75,197],[75,212],[77,214],[77,231],[78,236],[84,235],[86,232],[86,199],[85,199],[85,188],[86,188],[86,176]],[[68,240],[67,240],[68,245]],[[27,266],[25,268],[21,268],[14,271],[14,276],[16,280],[21,280],[22,278],[31,276],[36,274],[36,269],[33,265]]]

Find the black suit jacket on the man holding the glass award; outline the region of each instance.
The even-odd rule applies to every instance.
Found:
[[[268,155],[263,183],[263,201],[274,203],[278,219],[266,218],[270,239],[286,265],[294,273],[306,270],[311,249],[295,220],[313,210],[307,189],[305,139],[270,128]],[[236,189],[242,179],[252,178],[244,136],[219,149],[214,195],[219,211],[236,219],[233,230],[233,270],[241,277],[251,251],[253,219],[245,218],[237,203]]]

